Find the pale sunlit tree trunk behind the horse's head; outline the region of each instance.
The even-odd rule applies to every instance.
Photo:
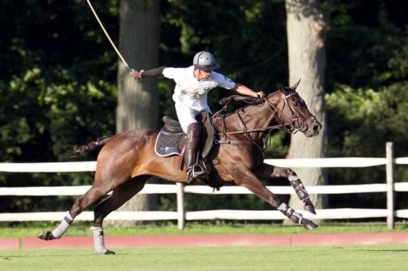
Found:
[[[307,138],[298,132],[293,134],[287,158],[320,158],[326,156],[326,109],[324,105],[324,73],[326,68],[325,36],[328,16],[319,0],[286,0],[287,43],[289,52],[290,84],[302,79],[297,91],[306,102],[310,112],[323,125],[319,136]],[[326,184],[323,168],[294,168],[304,185]],[[311,195],[316,209],[326,207],[327,197]],[[302,209],[296,195],[290,206]]]

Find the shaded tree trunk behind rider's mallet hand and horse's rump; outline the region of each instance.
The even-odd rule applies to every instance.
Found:
[[[160,1],[121,0],[119,51],[134,69],[158,67]],[[116,132],[158,128],[158,79],[145,78],[138,83],[128,76],[121,61],[118,65],[118,108]],[[150,180],[151,182],[151,180]],[[156,195],[136,195],[119,211],[157,209]],[[133,226],[136,221],[115,221],[115,226]]]

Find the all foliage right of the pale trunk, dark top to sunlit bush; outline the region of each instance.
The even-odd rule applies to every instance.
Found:
[[[341,1],[333,10],[327,39],[326,94],[329,157],[407,156],[407,25],[392,1]],[[364,13],[365,16],[359,14]],[[406,180],[406,166],[395,180]],[[385,168],[333,168],[329,183],[382,183]],[[384,193],[331,195],[330,206],[385,207]],[[397,194],[397,208],[407,206]]]

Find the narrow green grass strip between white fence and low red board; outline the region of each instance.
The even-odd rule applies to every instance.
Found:
[[[18,226],[7,226],[0,223],[0,237],[34,237],[45,230],[53,230],[55,223],[24,223]],[[65,233],[65,236],[92,236],[89,231],[92,222],[75,222]],[[385,223],[330,223],[321,224],[316,231],[306,231],[302,226],[281,226],[280,224],[198,224],[187,223],[184,230],[180,231],[174,224],[162,226],[140,225],[132,228],[106,227],[106,236],[139,236],[139,235],[191,235],[191,234],[296,234],[296,233],[379,233],[379,232],[407,232],[408,223],[401,222],[395,225],[392,231],[387,230]]]

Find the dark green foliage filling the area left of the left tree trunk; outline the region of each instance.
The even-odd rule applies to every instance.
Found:
[[[69,161],[73,144],[114,133],[116,56],[106,53],[110,45],[89,26],[95,21],[84,7],[80,1],[1,2],[1,162]],[[0,175],[0,185],[11,187],[89,183],[89,173]],[[0,197],[0,212],[70,204],[68,197],[57,204],[55,197]]]

